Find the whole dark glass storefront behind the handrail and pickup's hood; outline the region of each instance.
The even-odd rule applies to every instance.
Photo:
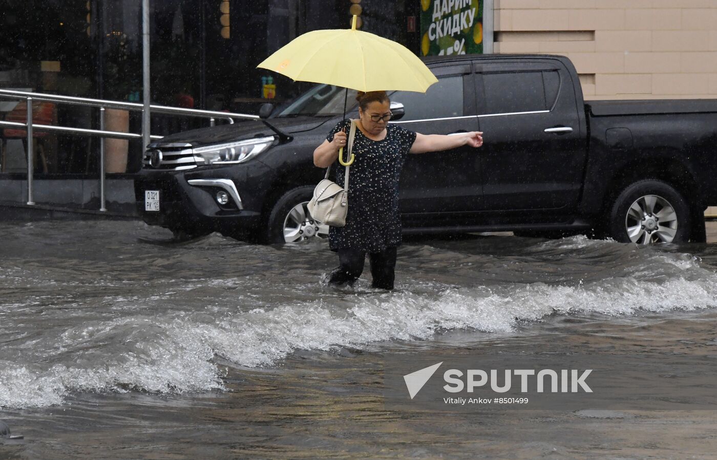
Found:
[[[141,102],[141,0],[6,0],[0,8],[0,88]],[[363,29],[399,42],[410,1],[363,0]],[[153,103],[257,113],[265,102],[277,112],[313,87],[257,69],[265,57],[300,34],[349,27],[349,1],[152,0]],[[325,111],[341,112],[336,92]],[[349,97],[349,105],[353,97]],[[0,119],[22,118],[22,107],[0,99]],[[341,108],[341,110],[339,110]],[[98,128],[99,110],[72,105],[38,109],[42,123]],[[327,113],[328,113],[327,112]],[[140,112],[110,112],[108,127],[141,130]],[[24,120],[24,118],[22,118]],[[152,134],[200,128],[208,121],[153,115]],[[37,173],[96,176],[99,139],[38,133]],[[27,172],[22,135],[0,128],[0,172]],[[140,141],[113,143],[124,160],[112,172],[141,167]],[[112,149],[110,148],[110,150]]]

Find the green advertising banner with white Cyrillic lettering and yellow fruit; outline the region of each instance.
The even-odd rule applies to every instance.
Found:
[[[483,53],[483,2],[421,0],[424,56]]]

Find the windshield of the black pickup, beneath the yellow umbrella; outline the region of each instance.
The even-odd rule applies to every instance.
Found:
[[[346,88],[333,85],[316,85],[297,97],[277,117],[328,116],[343,113],[343,100]],[[346,112],[356,106],[356,90],[348,90]]]

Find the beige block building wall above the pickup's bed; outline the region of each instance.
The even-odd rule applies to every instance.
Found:
[[[564,54],[591,99],[717,97],[717,1],[495,0],[495,52]]]

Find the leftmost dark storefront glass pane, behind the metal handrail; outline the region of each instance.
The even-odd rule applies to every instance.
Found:
[[[0,88],[95,97],[95,47],[87,33],[86,1],[5,1],[0,11]],[[90,4],[91,6],[91,4]],[[0,101],[0,119],[22,117],[17,101]],[[87,110],[47,102],[37,123],[90,125]],[[0,129],[2,172],[24,172],[24,131]],[[38,173],[72,172],[76,158],[68,151],[86,151],[87,140],[38,131],[35,163]],[[82,155],[85,156],[85,155]]]

